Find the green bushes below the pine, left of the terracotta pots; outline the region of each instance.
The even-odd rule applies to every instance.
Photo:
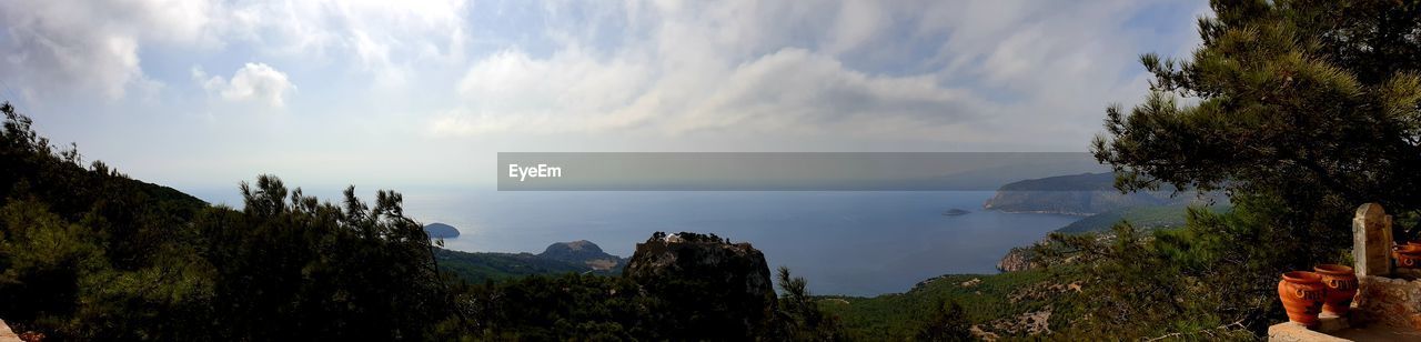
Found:
[[[1299,270],[1289,255],[1302,241],[1275,228],[1280,203],[1235,197],[1232,210],[1189,210],[1185,227],[1150,233],[1120,223],[1108,236],[1053,233],[1044,260],[1088,265],[1090,321],[1070,331],[1103,336],[1250,336],[1282,319],[1277,275]],[[1310,267],[1307,267],[1310,268]]]

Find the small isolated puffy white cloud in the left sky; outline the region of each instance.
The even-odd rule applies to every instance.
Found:
[[[287,79],[286,72],[261,62],[247,62],[232,75],[232,79],[207,77],[202,68],[193,67],[192,78],[207,94],[220,95],[226,101],[254,101],[271,108],[284,106],[286,94],[296,92],[296,85]]]

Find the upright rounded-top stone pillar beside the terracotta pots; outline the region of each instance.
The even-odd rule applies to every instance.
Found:
[[[1391,275],[1391,216],[1378,203],[1357,207],[1351,219],[1351,257],[1357,278]]]

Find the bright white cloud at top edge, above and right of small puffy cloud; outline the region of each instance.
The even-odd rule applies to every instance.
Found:
[[[416,62],[463,58],[466,9],[465,0],[242,1],[222,21],[233,41],[261,54],[341,62],[350,55],[375,85],[401,87]]]

